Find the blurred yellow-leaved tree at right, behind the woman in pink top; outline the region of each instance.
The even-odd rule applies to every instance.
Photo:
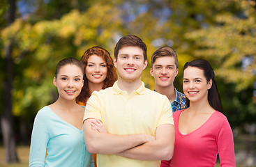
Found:
[[[218,13],[215,24],[185,37],[193,40],[191,53],[216,69],[224,111],[232,125],[241,126],[256,119],[256,3],[234,0],[232,4],[236,12]]]

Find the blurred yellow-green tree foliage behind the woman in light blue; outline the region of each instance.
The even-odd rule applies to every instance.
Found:
[[[120,27],[116,13],[110,5],[91,3],[89,10],[72,10],[60,19],[31,23],[27,15],[1,31],[4,46],[13,39],[13,114],[20,118],[19,136],[27,143],[38,109],[57,99],[52,79],[58,61],[80,59],[93,45],[112,48],[112,35]]]

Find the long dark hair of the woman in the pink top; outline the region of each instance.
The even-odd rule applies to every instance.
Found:
[[[208,102],[213,107],[213,109],[223,112],[223,109],[220,103],[220,95],[218,94],[218,89],[214,80],[215,74],[214,74],[213,68],[208,63],[208,61],[197,59],[195,61],[187,62],[184,65],[183,71],[187,67],[198,67],[199,69],[204,71],[204,77],[206,78],[206,81],[212,80],[213,82],[212,86],[208,90]],[[187,106],[190,106],[190,101],[188,100],[188,98],[186,98],[186,104]]]

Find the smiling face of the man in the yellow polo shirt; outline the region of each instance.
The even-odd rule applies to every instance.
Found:
[[[147,65],[143,50],[140,47],[123,47],[119,50],[117,60],[114,58],[119,81],[135,82],[142,77],[142,71]]]

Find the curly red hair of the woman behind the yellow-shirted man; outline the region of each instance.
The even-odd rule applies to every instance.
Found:
[[[87,49],[81,58],[82,65],[84,66],[84,86],[82,87],[80,95],[78,95],[76,98],[77,103],[80,102],[84,105],[91,96],[91,93],[89,93],[88,79],[86,78],[85,74],[88,58],[91,55],[100,56],[107,63],[107,77],[104,80],[103,89],[113,86],[117,79],[116,70],[110,53],[106,49],[97,46]]]

